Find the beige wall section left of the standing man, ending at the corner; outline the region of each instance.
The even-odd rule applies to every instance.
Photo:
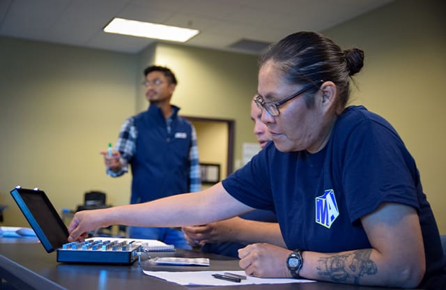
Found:
[[[0,38],[0,203],[7,225],[26,224],[10,197],[15,185],[45,190],[57,211],[83,194],[129,200],[130,178],[108,178],[101,149],[134,114],[134,56]]]

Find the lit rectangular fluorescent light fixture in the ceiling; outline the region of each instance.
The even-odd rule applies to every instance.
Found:
[[[141,22],[115,17],[104,27],[107,33],[125,34],[145,38],[155,38],[162,40],[178,41],[185,43],[190,38],[200,33],[197,29],[187,29],[177,26]]]

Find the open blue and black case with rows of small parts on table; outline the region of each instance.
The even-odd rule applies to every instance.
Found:
[[[93,238],[68,243],[68,229],[45,192],[17,186],[11,195],[45,250],[56,251],[58,262],[132,264],[143,252],[141,244],[123,239]]]

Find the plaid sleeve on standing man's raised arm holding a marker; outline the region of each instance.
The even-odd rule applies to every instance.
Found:
[[[115,150],[121,153],[121,170],[112,171],[109,168],[106,172],[109,176],[118,177],[128,172],[128,163],[132,160],[137,140],[137,128],[134,126],[134,119],[129,118],[124,121],[119,132],[118,141],[115,145]]]

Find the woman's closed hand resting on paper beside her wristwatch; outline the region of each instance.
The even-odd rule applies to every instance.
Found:
[[[286,259],[291,250],[277,245],[255,243],[238,250],[240,268],[255,277],[291,277]]]

